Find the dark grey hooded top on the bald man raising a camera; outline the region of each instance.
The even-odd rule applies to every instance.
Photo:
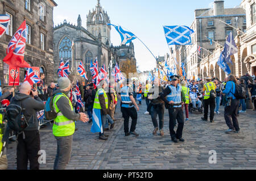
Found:
[[[16,93],[16,95],[11,99],[11,104],[13,101],[21,101],[22,108],[26,110],[23,112],[24,116],[28,121],[28,127],[24,131],[36,131],[39,129],[38,116],[36,112],[44,110],[44,103],[39,98],[39,96],[35,96],[33,99],[30,95]]]

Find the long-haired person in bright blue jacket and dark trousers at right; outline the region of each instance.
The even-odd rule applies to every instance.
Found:
[[[224,95],[224,99],[227,99],[224,117],[226,121],[226,125],[228,125],[229,129],[225,131],[225,133],[240,133],[240,128],[237,120],[237,109],[240,103],[239,99],[236,99],[234,96],[236,92],[236,85],[238,85],[238,81],[234,75],[229,75],[226,83],[226,89],[221,92]]]

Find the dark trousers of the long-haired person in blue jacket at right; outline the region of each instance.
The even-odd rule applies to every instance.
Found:
[[[226,125],[228,125],[229,129],[236,129],[236,131],[240,131],[238,120],[237,120],[237,109],[239,106],[240,100],[233,99],[230,103],[229,107],[225,107],[224,117],[226,121]]]

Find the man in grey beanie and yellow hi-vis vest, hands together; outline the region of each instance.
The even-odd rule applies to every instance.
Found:
[[[53,135],[57,140],[57,154],[54,162],[54,170],[65,170],[71,158],[73,133],[75,132],[75,121],[88,122],[85,113],[75,113],[70,97],[71,82],[68,78],[61,77],[58,80],[59,90],[53,95],[53,108],[57,112],[54,119]]]

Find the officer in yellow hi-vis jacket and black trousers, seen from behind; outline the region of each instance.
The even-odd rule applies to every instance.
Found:
[[[210,91],[216,90],[216,85],[211,80],[211,77],[205,78],[207,83],[205,83],[204,92],[204,117],[201,117],[203,121],[207,121],[208,118],[208,108],[210,106],[210,123],[213,123],[214,109],[215,109],[215,99],[210,99]]]

